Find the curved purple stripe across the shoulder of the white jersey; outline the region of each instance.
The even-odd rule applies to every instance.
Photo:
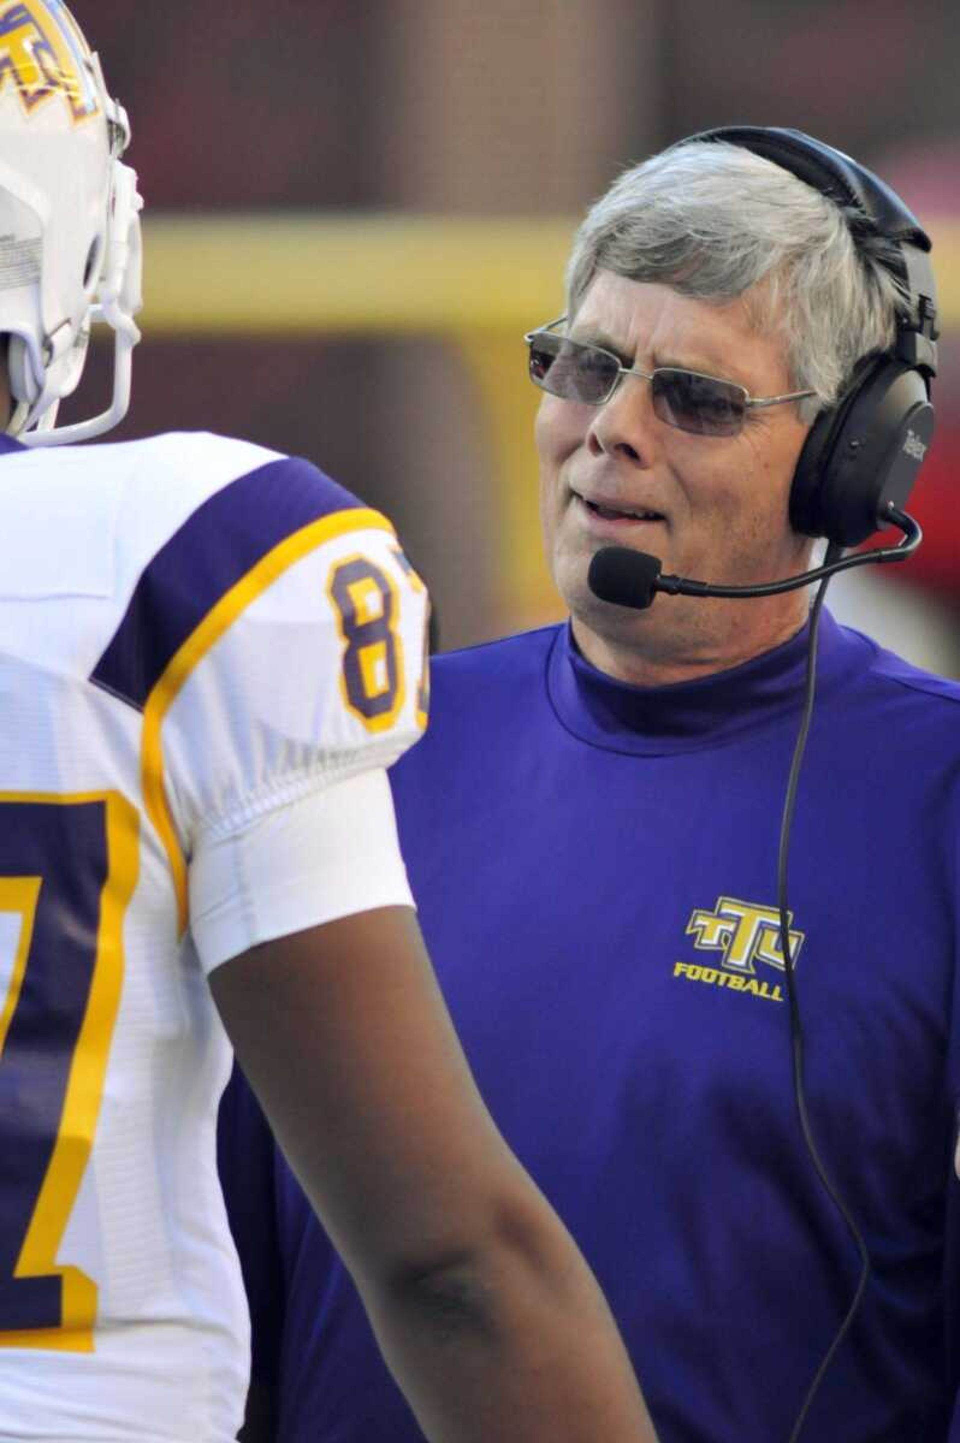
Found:
[[[204,502],[153,557],[91,681],[137,710],[208,612],[294,531],[361,506],[310,462],[283,457]]]

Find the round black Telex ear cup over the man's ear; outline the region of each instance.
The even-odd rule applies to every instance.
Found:
[[[869,359],[807,437],[790,494],[794,530],[843,547],[866,541],[888,505],[907,505],[933,430],[922,375],[889,355]]]

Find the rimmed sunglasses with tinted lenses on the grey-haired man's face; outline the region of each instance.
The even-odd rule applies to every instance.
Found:
[[[739,436],[752,407],[782,405],[784,401],[800,401],[816,394],[790,391],[787,395],[751,395],[733,381],[700,375],[699,371],[670,365],[657,367],[655,371],[627,367],[603,346],[557,335],[553,328],[564,320],[566,316],[560,316],[524,336],[530,346],[530,380],[541,391],[559,395],[563,401],[605,405],[625,375],[638,375],[650,381],[654,414],[667,426],[693,436]]]

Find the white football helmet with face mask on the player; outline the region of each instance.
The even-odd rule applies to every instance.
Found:
[[[0,335],[14,398],[7,431],[30,446],[87,440],[130,404],[143,304],[137,176],[100,59],[61,0],[0,0]],[[56,427],[79,384],[90,328],[110,325],[110,410]]]

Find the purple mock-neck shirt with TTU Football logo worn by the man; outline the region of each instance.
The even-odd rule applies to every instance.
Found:
[[[800,1131],[775,915],[806,641],[661,688],[566,626],[440,657],[393,772],[471,1065],[661,1443],[785,1440],[858,1280]],[[873,1277],[804,1443],[944,1443],[953,1410],[959,782],[960,687],[824,615],[790,909],[810,1115]],[[222,1118],[277,1439],[420,1439],[245,1089]]]

